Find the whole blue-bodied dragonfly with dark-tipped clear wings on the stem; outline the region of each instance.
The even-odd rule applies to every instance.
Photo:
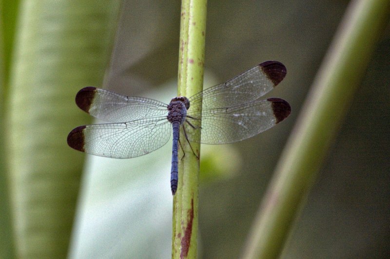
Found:
[[[280,98],[259,98],[286,73],[282,63],[266,61],[192,97],[175,97],[170,104],[85,87],[76,95],[78,107],[110,123],[78,126],[67,142],[92,155],[132,158],[162,147],[173,133],[171,190],[175,195],[180,127],[190,146],[191,142],[233,143],[270,129],[290,115],[290,104]]]

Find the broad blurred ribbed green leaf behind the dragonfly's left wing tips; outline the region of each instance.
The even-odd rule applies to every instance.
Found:
[[[9,81],[7,163],[19,258],[64,258],[83,156],[66,136],[86,122],[79,88],[101,85],[120,1],[22,1]]]

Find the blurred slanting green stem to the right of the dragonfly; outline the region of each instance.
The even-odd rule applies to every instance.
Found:
[[[389,0],[351,2],[281,155],[243,258],[279,257],[389,13]]]

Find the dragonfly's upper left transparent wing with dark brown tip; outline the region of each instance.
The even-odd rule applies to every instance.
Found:
[[[164,116],[168,113],[167,104],[162,102],[124,96],[91,86],[78,91],[76,104],[92,116],[109,122],[136,121]]]

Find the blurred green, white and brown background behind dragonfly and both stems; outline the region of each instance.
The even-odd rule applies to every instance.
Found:
[[[0,9],[4,67],[0,107],[8,118],[0,117],[0,130],[7,130],[0,145],[3,257],[15,252],[21,258],[61,258],[70,242],[71,258],[168,258],[169,145],[136,159],[88,157],[80,180],[84,156],[67,147],[66,135],[90,122],[74,104],[76,92],[84,86],[169,102],[176,92],[180,3],[20,0],[19,9],[5,8],[9,2],[3,0]],[[292,115],[250,140],[202,154],[202,258],[240,255],[278,156],[348,3],[209,1],[205,87],[262,61],[278,60],[288,73],[267,96],[287,100]],[[9,29],[12,19],[17,21],[14,32]],[[390,255],[389,28],[282,258]],[[28,50],[23,55],[20,46]]]

